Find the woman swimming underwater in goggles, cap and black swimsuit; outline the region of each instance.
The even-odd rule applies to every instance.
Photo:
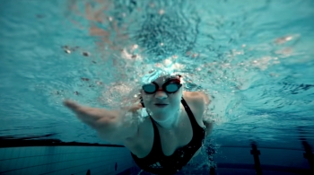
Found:
[[[153,174],[174,174],[199,152],[213,123],[203,114],[210,100],[203,92],[184,92],[179,74],[162,75],[142,86],[141,98],[132,107],[119,110],[96,109],[65,101],[65,106],[100,138],[121,143],[130,150],[135,163]],[[149,80],[150,81],[150,80]],[[132,122],[140,109],[147,111],[142,122]]]

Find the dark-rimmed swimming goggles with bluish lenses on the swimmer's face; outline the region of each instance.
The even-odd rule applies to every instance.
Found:
[[[177,92],[182,84],[179,79],[170,79],[166,83],[162,84],[162,90],[167,93]],[[159,90],[159,85],[157,83],[149,83],[142,86],[145,93],[153,94]]]

